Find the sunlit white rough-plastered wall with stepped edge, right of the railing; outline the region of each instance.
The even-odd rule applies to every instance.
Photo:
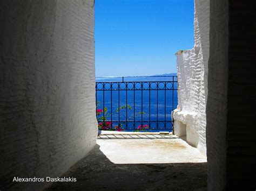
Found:
[[[206,155],[206,101],[209,58],[209,1],[194,1],[194,47],[178,51],[178,108],[174,134]]]

